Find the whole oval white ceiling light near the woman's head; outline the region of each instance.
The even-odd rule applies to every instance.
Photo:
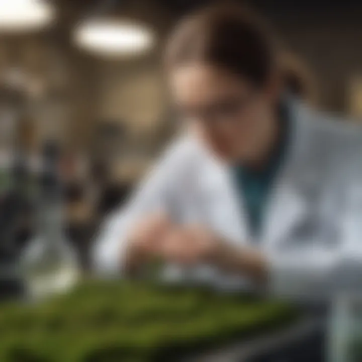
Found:
[[[129,56],[146,52],[154,43],[153,33],[130,21],[97,19],[80,24],[74,41],[89,52],[103,56]]]

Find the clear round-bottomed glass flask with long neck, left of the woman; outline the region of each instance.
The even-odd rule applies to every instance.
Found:
[[[62,193],[54,145],[45,150],[39,182],[36,232],[23,254],[30,298],[66,292],[79,277],[77,255],[64,233]]]

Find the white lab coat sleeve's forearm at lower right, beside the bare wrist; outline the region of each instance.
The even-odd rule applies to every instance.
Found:
[[[362,257],[328,250],[268,255],[269,291],[298,300],[324,300],[342,291],[362,291]]]

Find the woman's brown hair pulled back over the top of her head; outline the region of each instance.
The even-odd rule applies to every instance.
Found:
[[[262,86],[274,67],[274,39],[250,10],[236,4],[216,5],[176,26],[165,61],[167,68],[191,61],[207,62]]]

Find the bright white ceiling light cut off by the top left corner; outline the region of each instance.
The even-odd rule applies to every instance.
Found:
[[[0,31],[36,30],[54,19],[54,8],[40,0],[0,0]]]

